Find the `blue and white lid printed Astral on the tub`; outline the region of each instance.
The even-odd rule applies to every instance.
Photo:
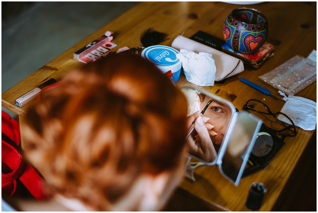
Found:
[[[156,66],[173,66],[181,63],[176,57],[179,52],[169,46],[155,45],[145,48],[141,55],[150,60]]]

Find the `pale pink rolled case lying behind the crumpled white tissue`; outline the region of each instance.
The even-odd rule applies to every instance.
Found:
[[[204,52],[212,54],[215,66],[217,68],[215,73],[215,81],[217,82],[222,81],[223,79],[232,75],[238,74],[244,70],[242,60],[183,36],[177,36],[172,42],[171,46],[178,51],[180,51],[180,49],[185,49],[195,53]]]

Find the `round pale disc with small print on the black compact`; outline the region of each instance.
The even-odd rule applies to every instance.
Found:
[[[257,157],[265,156],[271,151],[273,146],[273,138],[267,132],[259,132],[256,137],[255,144],[252,149],[253,155]]]

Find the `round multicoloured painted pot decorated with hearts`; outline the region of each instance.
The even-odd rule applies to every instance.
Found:
[[[267,34],[267,19],[255,9],[234,9],[223,25],[225,43],[236,52],[256,52],[264,44]]]

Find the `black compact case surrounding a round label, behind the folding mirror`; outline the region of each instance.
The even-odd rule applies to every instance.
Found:
[[[280,150],[280,148],[285,144],[284,141],[282,141],[277,135],[269,130],[266,125],[262,124],[259,132],[267,132],[271,135],[273,139],[273,145],[271,147],[271,150],[269,153],[267,153],[265,156],[255,156],[253,153],[251,153],[248,162],[246,164],[246,167],[244,169],[242,177],[245,177],[253,172],[258,171],[259,169],[262,169],[266,167],[268,162],[274,157],[274,155]]]

